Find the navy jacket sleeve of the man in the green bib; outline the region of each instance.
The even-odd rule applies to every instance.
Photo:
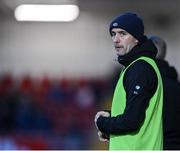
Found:
[[[116,117],[99,117],[97,120],[99,130],[113,135],[138,130],[145,119],[145,112],[156,91],[157,83],[156,72],[150,64],[145,61],[135,62],[128,68],[123,79],[126,91],[124,113]]]

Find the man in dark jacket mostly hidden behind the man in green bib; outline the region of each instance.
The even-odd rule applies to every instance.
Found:
[[[159,66],[163,87],[163,149],[180,149],[180,82],[174,67],[165,60],[166,42],[157,36],[149,37],[158,49],[157,65]]]

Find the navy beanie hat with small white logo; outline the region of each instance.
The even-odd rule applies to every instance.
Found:
[[[110,24],[110,34],[113,28],[124,29],[139,41],[142,41],[144,37],[143,21],[135,13],[127,12],[116,17]]]

